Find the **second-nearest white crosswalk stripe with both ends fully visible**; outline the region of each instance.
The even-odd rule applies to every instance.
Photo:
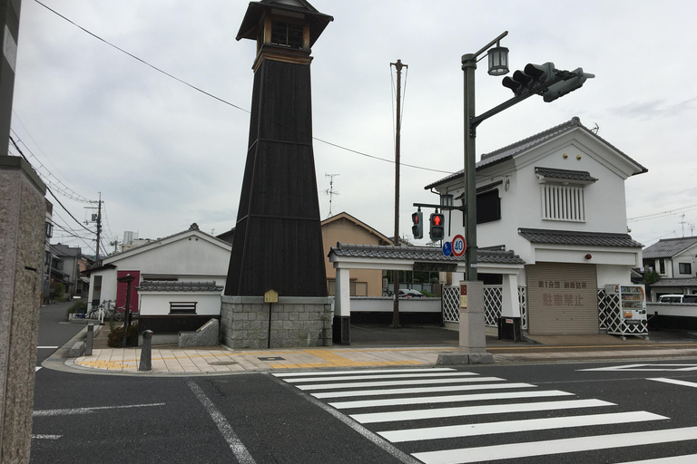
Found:
[[[463,406],[460,408],[439,408],[414,411],[369,412],[351,414],[349,417],[359,423],[391,422],[397,420],[440,419],[446,417],[475,416],[480,414],[502,414],[527,411],[556,411],[578,408],[595,408],[615,406],[614,403],[601,400],[540,401],[516,404],[488,404],[484,406]]]

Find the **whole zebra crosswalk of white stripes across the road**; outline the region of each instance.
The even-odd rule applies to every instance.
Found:
[[[629,464],[623,449],[662,443],[687,446],[632,463],[697,462],[697,427],[672,428],[663,415],[571,391],[446,367],[273,375],[426,464],[594,462],[598,452]]]

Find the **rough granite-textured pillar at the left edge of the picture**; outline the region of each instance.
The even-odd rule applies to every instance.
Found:
[[[0,463],[29,462],[44,262],[45,186],[0,156]]]

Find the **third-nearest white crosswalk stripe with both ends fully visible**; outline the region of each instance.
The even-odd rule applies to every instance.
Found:
[[[385,400],[339,401],[330,402],[329,406],[338,410],[355,408],[378,408],[381,406],[400,406],[402,404],[437,404],[441,402],[464,402],[486,400],[512,400],[520,398],[547,398],[570,396],[574,393],[559,390],[504,391],[498,393],[475,393],[466,395],[421,396],[416,398],[391,398]]]

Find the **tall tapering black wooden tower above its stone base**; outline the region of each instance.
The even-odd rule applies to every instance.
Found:
[[[332,21],[304,0],[251,2],[250,140],[225,295],[327,296],[312,151],[310,47]]]

